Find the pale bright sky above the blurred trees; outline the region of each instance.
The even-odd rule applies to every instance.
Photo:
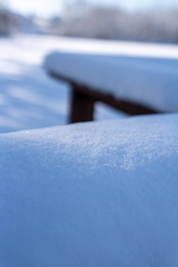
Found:
[[[4,0],[5,1],[5,0]],[[59,15],[67,0],[7,0],[13,11],[42,16]],[[75,0],[68,0],[75,1]],[[178,6],[177,0],[86,0],[91,4],[116,5],[124,8],[150,8],[154,6]]]

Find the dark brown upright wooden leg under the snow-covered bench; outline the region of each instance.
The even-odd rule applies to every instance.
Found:
[[[72,85],[70,123],[92,121],[94,119],[95,102],[94,98],[82,93],[78,86]]]

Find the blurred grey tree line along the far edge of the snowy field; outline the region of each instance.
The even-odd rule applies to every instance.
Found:
[[[36,32],[69,37],[178,43],[178,8],[127,11],[91,6],[86,0],[65,0],[63,16],[49,19],[49,27]],[[0,34],[35,32],[35,17],[14,14],[0,0]]]

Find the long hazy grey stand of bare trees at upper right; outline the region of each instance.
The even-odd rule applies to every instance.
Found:
[[[68,0],[69,6],[77,6],[73,7],[75,12],[72,13],[69,12],[68,6],[68,19],[63,20],[58,27],[58,34],[102,39],[178,42],[176,8],[135,13],[102,6],[87,6],[84,10],[81,9],[80,1]]]

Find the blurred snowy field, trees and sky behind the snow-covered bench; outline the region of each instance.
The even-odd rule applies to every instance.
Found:
[[[148,42],[178,49],[177,0],[0,0],[0,133],[68,123],[70,87],[43,67],[51,51],[139,51]],[[120,116],[96,105],[95,119]]]

